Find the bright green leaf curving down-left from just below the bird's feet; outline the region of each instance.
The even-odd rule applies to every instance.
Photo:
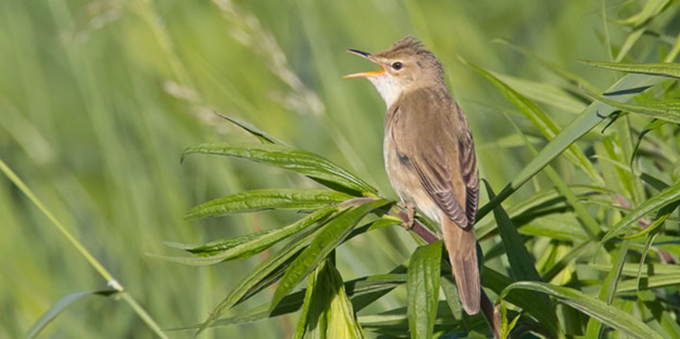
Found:
[[[309,247],[292,262],[286,273],[284,273],[272,298],[272,306],[276,306],[321,260],[326,258],[337,245],[342,243],[345,237],[350,235],[352,228],[354,228],[359,220],[376,208],[388,203],[390,201],[378,199],[358,207],[351,207],[322,226],[319,234],[311,241]]]

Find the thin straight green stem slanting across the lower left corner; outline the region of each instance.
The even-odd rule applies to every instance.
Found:
[[[54,224],[54,226],[56,226],[56,229],[64,237],[66,237],[66,239],[71,243],[71,245],[73,245],[73,247],[75,247],[76,250],[78,250],[78,252],[80,252],[85,260],[90,263],[90,266],[95,268],[95,271],[97,271],[99,275],[106,279],[107,285],[113,287],[114,290],[117,290],[120,293],[123,300],[125,300],[130,305],[133,311],[139,315],[141,320],[144,321],[159,338],[167,338],[165,333],[163,333],[163,330],[160,330],[160,327],[156,321],[150,317],[144,308],[137,304],[132,296],[124,292],[124,288],[122,285],[120,285],[120,283],[118,283],[118,280],[116,280],[116,278],[114,278],[114,276],[109,273],[109,271],[101,264],[101,262],[99,262],[99,260],[97,260],[97,258],[90,254],[90,252],[82,243],[80,243],[80,241],[78,241],[78,239],[73,237],[69,230],[67,230],[67,228],[54,216],[54,214],[52,214],[52,212],[50,212],[50,210],[48,210],[45,205],[43,205],[43,203],[35,196],[33,191],[31,191],[31,188],[29,188],[29,186],[27,186],[23,180],[21,180],[21,178],[19,178],[19,176],[17,176],[9,166],[7,166],[3,159],[0,159],[0,171],[2,171],[5,176],[7,176],[7,178],[9,178],[10,181],[14,183],[16,187],[19,188],[19,190],[24,193],[24,195],[26,195],[26,197],[28,197],[36,207],[38,207],[38,210],[40,210],[40,212],[42,212],[52,222],[52,224]]]

